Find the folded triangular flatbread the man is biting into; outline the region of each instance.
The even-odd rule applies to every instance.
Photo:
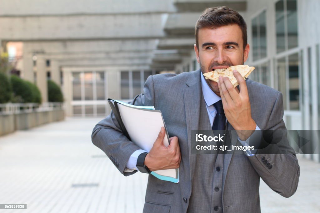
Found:
[[[222,71],[222,69],[218,69],[208,73],[204,73],[203,75],[206,79],[210,79],[211,81],[215,81],[217,83],[219,81],[219,76],[228,77],[233,87],[236,87],[239,85],[239,83],[236,77],[233,75],[232,71],[238,71],[242,75],[243,79],[245,79],[251,74],[254,69],[254,67],[249,67],[248,65],[236,65],[228,67],[225,71]]]

